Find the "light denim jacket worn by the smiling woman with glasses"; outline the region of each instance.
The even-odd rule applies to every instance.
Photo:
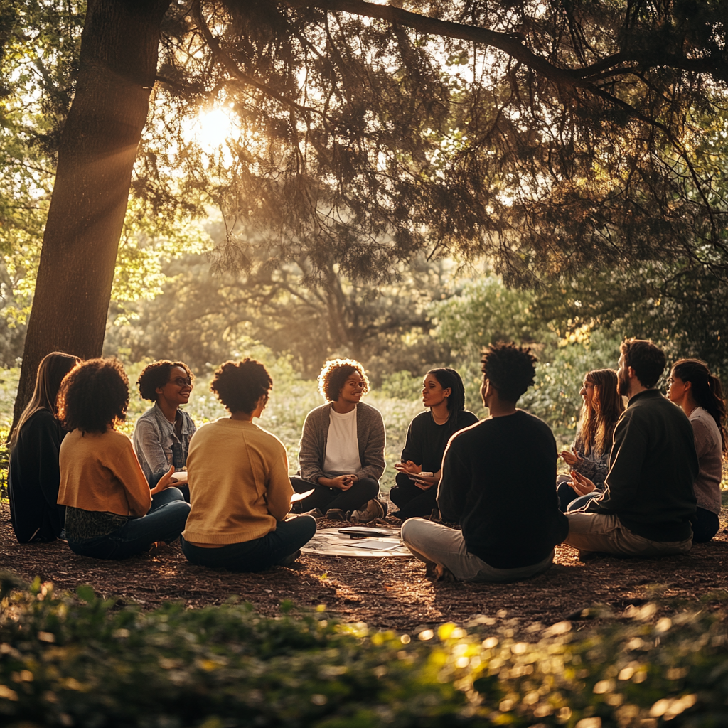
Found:
[[[189,440],[197,428],[185,411],[178,409],[176,416],[182,419],[180,438],[175,435],[174,424],[165,417],[156,402],[135,424],[134,450],[147,480],[157,472],[169,470],[170,465],[180,470],[187,464]]]

